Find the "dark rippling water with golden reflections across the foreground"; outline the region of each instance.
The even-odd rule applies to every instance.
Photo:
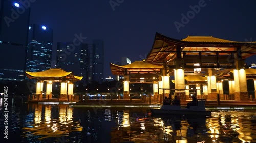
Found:
[[[256,142],[255,110],[154,118],[148,108],[77,108],[25,99],[9,97],[8,140],[0,99],[0,142]]]

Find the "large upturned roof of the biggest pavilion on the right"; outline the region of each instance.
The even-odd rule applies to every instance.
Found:
[[[220,39],[212,36],[188,36],[178,40],[164,36],[160,33],[155,34],[155,39],[151,51],[148,53],[146,62],[162,65],[167,61],[176,58],[176,47],[181,46],[181,52],[186,55],[230,55],[237,52],[241,47],[242,58],[247,58],[256,53],[256,42],[238,42]]]

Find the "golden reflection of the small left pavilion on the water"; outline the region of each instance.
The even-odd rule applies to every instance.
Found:
[[[58,108],[58,119],[52,118],[52,108]],[[69,136],[71,132],[82,131],[79,122],[73,121],[73,109],[67,105],[31,104],[29,110],[34,111],[34,121],[22,128],[23,138],[29,141],[46,138],[55,140],[56,137]]]

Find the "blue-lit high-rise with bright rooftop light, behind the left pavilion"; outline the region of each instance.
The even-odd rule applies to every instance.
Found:
[[[50,69],[52,61],[53,30],[44,25],[29,27],[26,71],[38,72]]]

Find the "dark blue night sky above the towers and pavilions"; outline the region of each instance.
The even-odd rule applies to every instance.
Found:
[[[116,6],[111,6],[110,2]],[[190,6],[203,4],[179,32],[174,22],[182,24],[182,15]],[[53,51],[57,42],[73,41],[74,34],[105,43],[104,77],[112,76],[109,63],[122,56],[132,62],[146,58],[155,32],[171,38],[188,35],[214,36],[233,41],[256,41],[256,1],[135,1],[135,0],[37,0],[31,4],[30,24],[53,28]],[[246,40],[247,39],[247,40]],[[246,62],[255,63],[253,56]]]

